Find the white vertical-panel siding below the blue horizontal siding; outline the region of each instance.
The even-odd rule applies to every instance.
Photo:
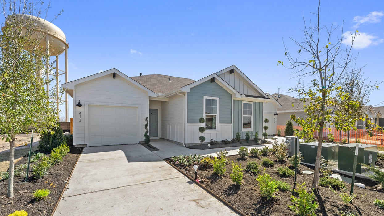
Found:
[[[199,127],[201,124],[187,124],[187,141],[188,143],[199,143],[199,137],[201,134],[199,133]],[[203,133],[205,137],[205,142],[209,142],[210,139],[221,141],[221,140],[231,140],[233,138],[233,130],[232,124],[218,124],[217,131],[215,132],[207,132]]]

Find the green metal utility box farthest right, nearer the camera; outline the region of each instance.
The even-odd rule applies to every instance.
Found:
[[[339,170],[353,171],[353,160],[355,158],[356,143],[339,146]],[[377,145],[359,144],[358,161],[356,173],[361,173],[359,163],[374,165],[377,161]]]

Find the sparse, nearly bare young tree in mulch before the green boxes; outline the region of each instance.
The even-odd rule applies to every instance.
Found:
[[[319,134],[312,181],[314,189],[317,189],[318,186],[324,127],[334,124],[338,129],[347,130],[354,125],[350,119],[339,121],[343,119],[343,116],[337,116],[342,114],[341,112],[334,112],[337,102],[339,100],[348,101],[349,106],[355,109],[360,106],[359,102],[350,100],[342,87],[337,85],[343,75],[347,73],[351,62],[356,60],[351,53],[351,47],[358,31],[351,34],[351,45],[343,47],[343,28],[341,28],[340,36],[336,37],[334,33],[338,30],[337,26],[320,26],[320,1],[316,18],[316,22],[310,21],[309,25],[304,20],[303,41],[290,38],[298,46],[297,54],[290,53],[285,46],[285,55],[289,61],[289,65],[285,67],[293,69],[293,74],[299,79],[299,84],[291,91],[300,95],[300,101],[303,102],[303,109],[306,113],[305,117],[296,117],[293,114],[291,119],[302,127],[302,130],[298,132],[300,137],[313,137],[314,132]],[[283,61],[278,61],[278,64],[283,65]],[[305,84],[306,79],[310,80],[310,84]]]

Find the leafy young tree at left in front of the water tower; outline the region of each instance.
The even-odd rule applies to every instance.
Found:
[[[52,132],[57,125],[56,101],[50,100],[44,88],[48,77],[36,75],[38,71],[51,70],[50,56],[41,50],[43,33],[36,34],[34,20],[26,21],[17,14],[40,17],[45,10],[36,9],[42,2],[2,2],[6,20],[0,34],[0,135],[10,142],[8,197],[13,197],[14,147],[16,135]],[[49,6],[48,6],[49,7]],[[47,7],[47,8],[48,8]],[[26,48],[28,51],[26,51]],[[51,92],[55,98],[56,92]]]

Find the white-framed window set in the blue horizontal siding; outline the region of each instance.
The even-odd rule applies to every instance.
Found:
[[[218,97],[204,96],[204,119],[206,130],[217,130]]]

